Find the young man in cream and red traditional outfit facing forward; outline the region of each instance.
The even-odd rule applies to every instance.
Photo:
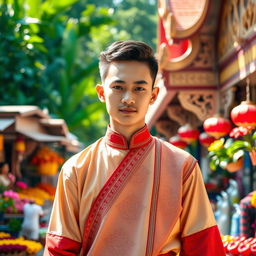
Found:
[[[142,42],[101,53],[110,125],[62,168],[45,256],[225,255],[196,160],[145,125],[157,70]]]

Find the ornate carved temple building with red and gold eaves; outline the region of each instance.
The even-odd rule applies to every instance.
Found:
[[[256,101],[256,2],[159,0],[158,101],[149,127],[167,140],[243,100]],[[201,128],[200,128],[201,127]]]

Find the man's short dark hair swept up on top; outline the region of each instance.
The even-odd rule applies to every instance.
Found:
[[[140,41],[126,40],[112,43],[99,57],[101,80],[107,76],[108,68],[113,61],[139,61],[148,65],[153,85],[158,72],[158,63],[150,46]]]

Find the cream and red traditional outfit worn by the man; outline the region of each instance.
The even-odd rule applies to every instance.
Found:
[[[59,176],[44,256],[224,256],[197,161],[152,137],[111,130]]]

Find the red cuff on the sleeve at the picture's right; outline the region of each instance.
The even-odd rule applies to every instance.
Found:
[[[180,256],[225,256],[217,226],[182,238]]]

